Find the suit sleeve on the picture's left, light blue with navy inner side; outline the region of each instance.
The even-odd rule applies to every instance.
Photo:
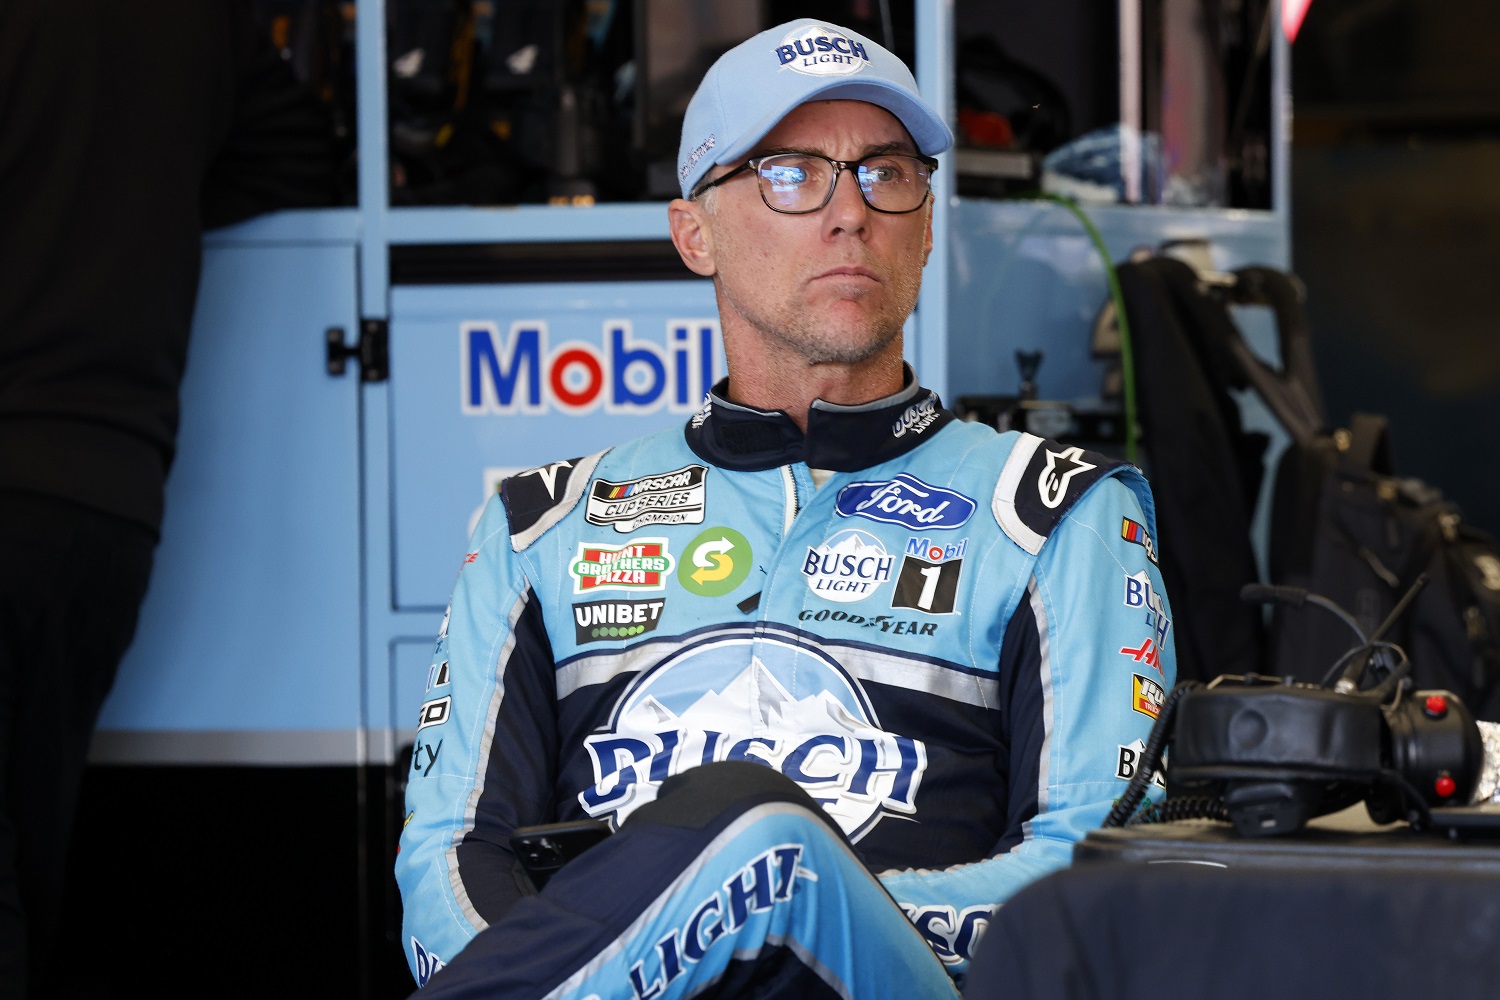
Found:
[[[555,819],[552,652],[498,496],[470,549],[428,675],[396,856],[418,985],[530,892],[510,832]]]

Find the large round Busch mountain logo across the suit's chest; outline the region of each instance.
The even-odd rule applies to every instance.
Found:
[[[750,630],[700,639],[638,676],[584,745],[594,784],[578,799],[616,828],[669,775],[750,760],[798,783],[858,841],[888,813],[916,813],[927,771],[926,745],[885,732],[837,661]]]

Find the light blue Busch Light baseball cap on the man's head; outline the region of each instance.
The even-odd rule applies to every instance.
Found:
[[[676,178],[687,198],[716,163],[742,159],[808,100],[867,100],[894,114],[916,148],[936,156],[952,132],[916,93],[906,63],[858,31],[801,18],[766,28],[718,57],[682,117]]]

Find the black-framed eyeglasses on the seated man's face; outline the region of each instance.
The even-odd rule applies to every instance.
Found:
[[[938,160],[906,153],[876,153],[858,160],[836,160],[814,153],[772,153],[756,156],[723,177],[699,184],[692,196],[698,198],[710,187],[753,171],[766,208],[804,216],[828,204],[838,174],[844,169],[855,172],[864,204],[876,211],[900,216],[926,204]]]

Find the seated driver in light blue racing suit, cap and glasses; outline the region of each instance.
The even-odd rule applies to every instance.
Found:
[[[902,360],[951,139],[820,21],[708,70],[668,214],[729,376],[474,532],[396,864],[424,997],[954,996],[1125,787],[1174,672],[1144,480]],[[590,817],[536,892],[512,834]]]

